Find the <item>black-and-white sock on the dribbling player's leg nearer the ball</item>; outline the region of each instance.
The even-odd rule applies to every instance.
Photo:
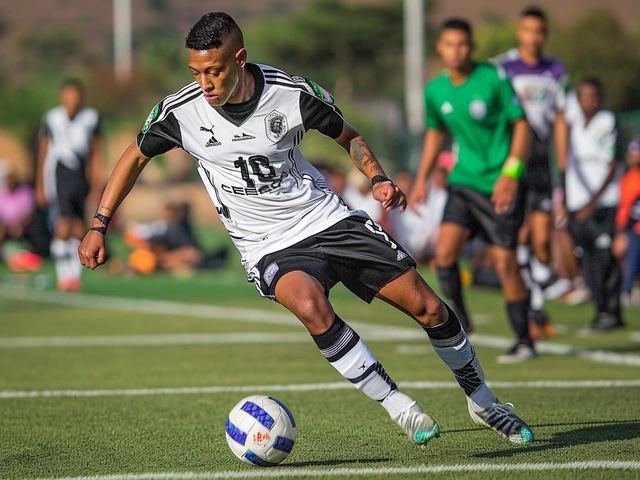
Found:
[[[413,403],[412,398],[398,392],[369,347],[337,315],[326,332],[312,337],[329,363],[367,397],[380,402],[392,418]]]

